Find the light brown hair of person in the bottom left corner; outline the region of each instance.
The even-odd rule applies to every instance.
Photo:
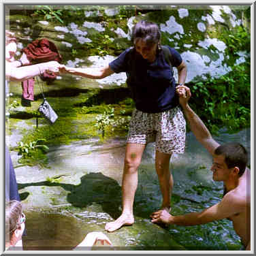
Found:
[[[5,202],[5,242],[10,242],[14,231],[20,227],[18,223],[22,214],[22,205],[16,200]]]

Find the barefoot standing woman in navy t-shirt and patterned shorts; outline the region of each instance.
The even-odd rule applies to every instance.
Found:
[[[170,210],[173,178],[169,165],[172,153],[184,153],[185,118],[178,106],[176,81],[172,67],[178,69],[178,84],[185,84],[187,67],[180,54],[160,45],[161,32],[153,23],[142,20],[133,27],[131,47],[102,68],[61,67],[63,73],[100,79],[126,72],[135,110],[129,125],[123,170],[123,212],[116,221],[106,224],[107,231],[132,225],[133,201],[138,186],[138,167],[148,142],[155,142],[155,166],[163,201],[161,209]],[[167,54],[165,53],[167,50]]]

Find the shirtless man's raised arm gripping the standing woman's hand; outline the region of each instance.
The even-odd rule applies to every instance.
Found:
[[[214,150],[219,146],[219,143],[216,142],[210,131],[207,129],[206,125],[202,122],[202,120],[195,114],[195,112],[189,106],[189,98],[191,97],[191,92],[189,87],[187,86],[177,86],[176,89],[179,95],[180,106],[182,106],[182,110],[189,121],[189,126],[191,131],[194,133],[195,138],[203,144],[203,146],[208,150],[208,152],[213,155]]]

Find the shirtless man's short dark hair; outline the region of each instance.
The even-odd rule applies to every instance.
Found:
[[[248,161],[248,154],[244,146],[236,142],[225,143],[216,148],[214,154],[224,155],[227,167],[238,167],[238,175],[242,176]]]

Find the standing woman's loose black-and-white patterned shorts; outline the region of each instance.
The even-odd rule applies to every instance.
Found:
[[[155,142],[161,153],[184,153],[185,138],[186,121],[179,106],[160,113],[133,110],[127,143]]]

